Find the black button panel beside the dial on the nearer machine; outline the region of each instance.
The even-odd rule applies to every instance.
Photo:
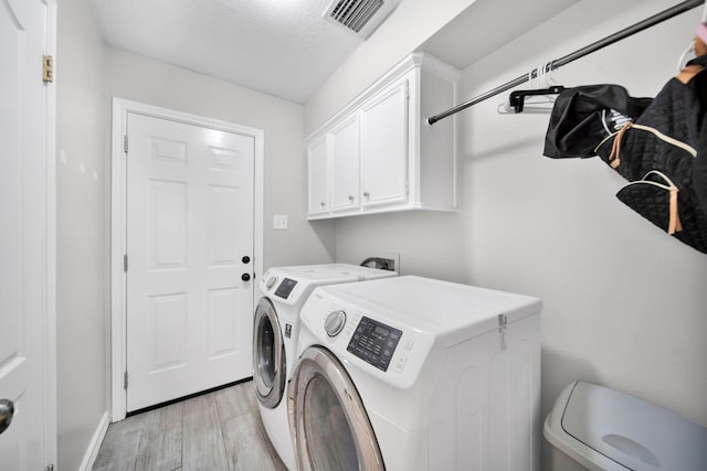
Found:
[[[387,372],[401,336],[401,330],[362,317],[346,351]]]

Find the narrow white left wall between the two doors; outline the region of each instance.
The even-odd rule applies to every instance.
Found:
[[[59,2],[56,53],[57,469],[78,469],[107,410],[103,40],[85,0]]]

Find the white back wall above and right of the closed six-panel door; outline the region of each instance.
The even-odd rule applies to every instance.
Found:
[[[334,259],[334,225],[306,222],[303,106],[114,47],[107,94],[265,131],[264,267]],[[273,231],[273,215],[288,231]]]

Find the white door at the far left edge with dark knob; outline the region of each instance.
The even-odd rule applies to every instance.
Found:
[[[54,119],[52,86],[42,81],[53,13],[40,0],[0,3],[0,469],[41,470],[53,452],[44,431],[54,426],[45,358]]]

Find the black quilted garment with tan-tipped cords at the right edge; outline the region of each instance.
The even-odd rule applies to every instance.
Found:
[[[616,197],[683,243],[707,253],[704,192],[705,149],[700,146],[707,69],[686,84],[673,77],[645,111],[598,147],[599,157],[631,183]],[[704,196],[704,195],[703,195]]]

